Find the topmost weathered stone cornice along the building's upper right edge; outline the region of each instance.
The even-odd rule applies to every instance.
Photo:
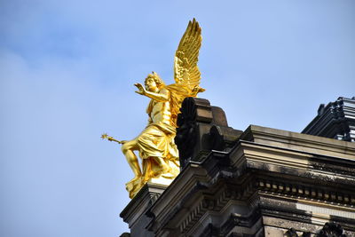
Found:
[[[272,167],[274,172],[284,173],[291,171],[290,169],[297,169],[318,173],[328,178],[334,176],[337,179],[355,178],[355,159],[341,157],[343,154],[336,157],[304,152],[302,147],[297,150],[296,147],[285,148],[248,141],[240,141],[232,153],[231,160],[236,166],[241,162],[247,162],[249,168],[270,169]],[[268,168],[261,164],[265,164]]]

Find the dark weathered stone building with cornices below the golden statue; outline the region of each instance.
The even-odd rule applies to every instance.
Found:
[[[303,133],[241,131],[207,99],[185,99],[181,173],[139,191],[122,236],[355,236],[355,99],[319,110]]]

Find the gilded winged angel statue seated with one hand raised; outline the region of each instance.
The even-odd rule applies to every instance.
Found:
[[[165,85],[159,75],[153,72],[146,77],[145,86],[135,84],[138,94],[151,99],[146,108],[148,124],[137,138],[118,141],[106,134],[102,136],[122,144],[122,153],[134,173],[134,178],[126,184],[130,198],[147,181],[169,185],[179,173],[178,151],[174,143],[177,114],[186,97],[196,97],[197,93],[205,91],[200,87],[201,73],[197,67],[201,40],[201,28],[193,19],[175,53],[175,83]],[[134,151],[138,151],[141,166]]]

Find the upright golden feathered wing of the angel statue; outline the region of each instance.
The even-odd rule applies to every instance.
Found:
[[[184,36],[178,44],[174,59],[174,79],[181,86],[193,91],[199,86],[201,73],[197,67],[199,51],[201,48],[202,36],[199,23],[193,19],[185,30]]]

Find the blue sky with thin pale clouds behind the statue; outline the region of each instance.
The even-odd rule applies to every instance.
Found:
[[[354,1],[0,1],[0,235],[118,236],[152,70],[173,82],[188,20],[201,98],[229,125],[301,131],[355,96]]]

